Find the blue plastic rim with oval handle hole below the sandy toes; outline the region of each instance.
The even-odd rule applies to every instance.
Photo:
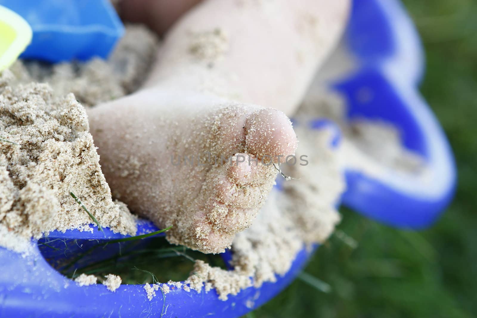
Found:
[[[155,229],[145,221],[141,221],[139,226],[143,233]],[[66,234],[69,238],[80,238],[84,233],[69,232]],[[111,235],[116,237],[106,230],[106,237]],[[63,236],[55,232],[49,238],[54,240]],[[104,234],[95,229],[94,234],[89,233],[86,237],[102,240]],[[76,244],[73,239],[70,241],[73,250],[74,246],[80,248],[82,245]],[[93,242],[97,244],[96,240]],[[53,249],[46,249],[54,253]],[[215,290],[198,293],[183,289],[175,289],[164,296],[157,291],[156,297],[149,301],[144,285],[121,285],[114,293],[100,284],[79,287],[54,270],[43,257],[48,255],[41,255],[37,247],[34,247],[34,254],[27,258],[0,248],[0,260],[3,260],[0,263],[0,317],[240,317],[288,286],[311,253],[302,250],[288,273],[283,277],[277,276],[275,283],[265,283],[260,288],[249,287],[236,296],[230,296],[227,301],[219,300]]]

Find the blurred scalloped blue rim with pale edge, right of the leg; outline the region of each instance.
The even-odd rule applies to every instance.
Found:
[[[393,123],[404,145],[425,158],[426,172],[389,170],[369,176],[350,168],[342,203],[391,226],[430,226],[454,196],[456,166],[446,136],[418,90],[424,74],[419,35],[400,2],[355,0],[347,40],[360,66],[333,86],[346,99],[348,118]],[[372,97],[360,100],[362,90]]]

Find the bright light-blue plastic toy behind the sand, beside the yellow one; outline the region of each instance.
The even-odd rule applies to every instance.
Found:
[[[0,0],[33,30],[24,59],[48,62],[107,58],[124,27],[109,0]]]

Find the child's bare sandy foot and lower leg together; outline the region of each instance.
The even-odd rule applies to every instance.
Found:
[[[276,109],[293,112],[339,38],[348,1],[337,3],[210,0],[189,12],[145,89],[88,112],[113,194],[158,226],[174,226],[172,243],[206,253],[230,246],[265,202],[273,165],[177,167],[171,158],[294,154],[296,135]]]

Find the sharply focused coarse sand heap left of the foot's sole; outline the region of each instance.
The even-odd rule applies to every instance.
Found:
[[[111,198],[85,110],[73,94],[56,98],[48,84],[11,81],[9,71],[1,73],[0,227],[28,240],[55,229],[92,231],[73,193],[102,226],[135,234],[135,217]],[[0,237],[1,246],[8,241]]]

